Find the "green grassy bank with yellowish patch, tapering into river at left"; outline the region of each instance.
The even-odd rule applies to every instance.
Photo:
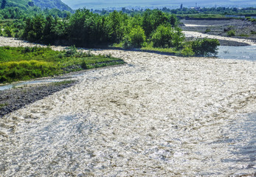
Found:
[[[122,63],[124,63],[123,60],[112,58],[111,55],[77,52],[74,46],[60,52],[49,47],[3,46],[0,47],[0,83],[30,80]]]

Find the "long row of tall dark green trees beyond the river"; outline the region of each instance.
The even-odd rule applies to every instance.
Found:
[[[159,43],[160,31],[167,30],[169,41]],[[99,46],[121,41],[128,45],[142,46],[153,41],[155,46],[174,46],[183,40],[176,15],[161,10],[145,10],[134,16],[114,11],[108,15],[76,10],[66,18],[36,15],[27,18],[22,35],[27,41],[44,44],[75,44],[76,46]],[[180,40],[180,41],[179,41]]]

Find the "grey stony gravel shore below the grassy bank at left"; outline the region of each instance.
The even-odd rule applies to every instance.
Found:
[[[32,86],[0,91],[0,117],[37,100],[42,100],[57,91],[71,87],[75,83],[77,82],[53,83],[47,86]]]

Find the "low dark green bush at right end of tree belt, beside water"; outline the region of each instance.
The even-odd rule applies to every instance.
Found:
[[[220,42],[218,39],[196,39],[191,42],[191,48],[195,55],[197,56],[211,56],[218,54],[218,46],[220,46]]]

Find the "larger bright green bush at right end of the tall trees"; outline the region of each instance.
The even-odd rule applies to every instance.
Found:
[[[181,29],[174,29],[162,24],[153,32],[151,39],[154,47],[170,48],[174,46],[179,48],[181,42],[184,41],[184,35]]]

